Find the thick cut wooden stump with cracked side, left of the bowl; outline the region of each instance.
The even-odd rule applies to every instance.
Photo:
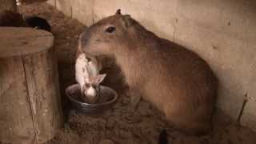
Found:
[[[0,141],[49,141],[62,126],[54,37],[31,28],[0,31]]]

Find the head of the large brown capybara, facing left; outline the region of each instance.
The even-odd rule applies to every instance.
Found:
[[[134,19],[128,14],[116,14],[103,18],[86,29],[79,38],[81,50],[91,55],[116,54],[121,47],[129,45],[130,27]]]

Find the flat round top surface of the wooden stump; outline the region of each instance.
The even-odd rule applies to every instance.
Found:
[[[52,34],[33,28],[0,27],[0,58],[34,54],[50,49],[54,43]]]

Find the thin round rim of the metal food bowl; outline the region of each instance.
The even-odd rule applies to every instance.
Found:
[[[112,91],[112,92],[114,93],[114,98],[111,99],[110,101],[101,102],[101,103],[86,103],[86,102],[78,101],[78,100],[76,100],[75,98],[72,98],[72,97],[70,96],[70,92],[69,92],[69,90],[70,90],[72,87],[77,87],[77,86],[79,86],[79,84],[73,84],[73,85],[67,86],[67,87],[66,87],[66,90],[65,90],[65,93],[66,93],[66,96],[67,96],[71,101],[73,101],[73,102],[75,102],[75,103],[77,103],[77,104],[79,104],[79,105],[82,105],[82,106],[93,106],[93,107],[94,107],[94,106],[106,106],[106,105],[108,105],[108,104],[110,104],[110,103],[115,102],[115,101],[118,99],[118,93],[117,93],[115,90],[111,89],[109,86],[102,86],[102,85],[100,85],[100,89],[104,88],[104,89],[108,89],[108,90]]]

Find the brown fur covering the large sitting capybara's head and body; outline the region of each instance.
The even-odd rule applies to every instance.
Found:
[[[111,26],[115,31],[108,33]],[[198,54],[118,13],[90,26],[79,41],[88,54],[114,55],[130,89],[175,126],[193,134],[210,130],[217,78]]]

